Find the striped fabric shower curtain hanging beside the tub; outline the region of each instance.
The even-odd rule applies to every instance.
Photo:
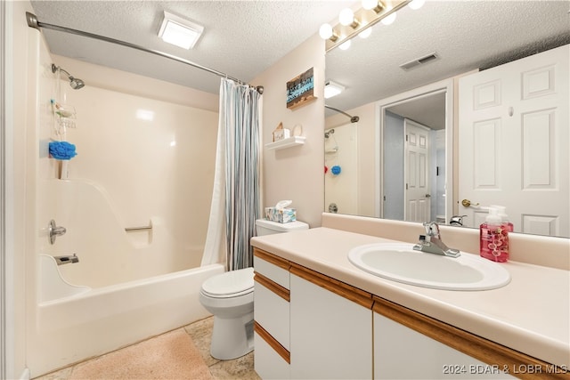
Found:
[[[222,78],[216,173],[202,265],[253,266],[249,239],[261,214],[261,95]]]

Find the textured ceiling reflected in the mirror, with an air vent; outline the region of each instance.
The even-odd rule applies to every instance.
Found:
[[[327,104],[352,109],[421,85],[570,43],[568,1],[427,1],[390,26],[327,54],[327,79],[346,86]],[[436,53],[413,69],[405,62]],[[414,117],[419,119],[420,117]]]

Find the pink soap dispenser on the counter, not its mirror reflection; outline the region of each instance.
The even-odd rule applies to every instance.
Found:
[[[502,222],[496,206],[489,207],[485,222],[479,226],[479,254],[493,262],[509,261],[509,226]]]

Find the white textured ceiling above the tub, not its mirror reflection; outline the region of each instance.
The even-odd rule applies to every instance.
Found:
[[[348,1],[32,1],[40,22],[170,53],[250,81],[317,33]],[[158,36],[163,11],[205,29],[188,51]],[[120,45],[43,29],[52,53],[218,93],[216,76]],[[76,74],[80,77],[80,73]]]

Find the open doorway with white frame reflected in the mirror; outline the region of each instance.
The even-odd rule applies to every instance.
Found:
[[[376,104],[380,217],[407,222],[451,220],[452,197],[447,194],[453,189],[452,98],[452,81],[443,81]]]

